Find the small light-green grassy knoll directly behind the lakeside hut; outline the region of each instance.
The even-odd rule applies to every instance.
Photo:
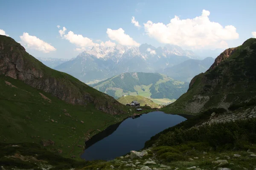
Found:
[[[160,106],[154,103],[151,99],[148,99],[143,96],[122,96],[119,99],[117,99],[118,102],[124,105],[131,103],[134,100],[139,102],[141,106],[148,105],[151,108],[160,108]]]

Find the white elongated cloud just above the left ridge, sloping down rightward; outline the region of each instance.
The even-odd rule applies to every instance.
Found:
[[[50,51],[56,51],[52,45],[40,40],[38,37],[31,36],[29,33],[23,33],[20,36],[20,44],[24,45],[26,48],[32,48],[38,51],[43,51],[44,53],[49,53]]]

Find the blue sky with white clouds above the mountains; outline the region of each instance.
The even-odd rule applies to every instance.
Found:
[[[256,38],[256,0],[0,0],[0,34],[34,57],[143,43],[214,50]]]

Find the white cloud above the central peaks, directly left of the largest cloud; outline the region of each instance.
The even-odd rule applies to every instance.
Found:
[[[125,31],[122,28],[117,30],[108,28],[107,34],[111,40],[117,41],[121,45],[140,46],[140,44],[134,41],[129,35],[125,34]]]

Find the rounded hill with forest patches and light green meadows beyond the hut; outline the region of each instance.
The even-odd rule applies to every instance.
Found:
[[[158,73],[122,73],[92,85],[118,99],[122,95],[144,96],[153,99],[177,99],[188,89],[189,83],[176,81]]]

